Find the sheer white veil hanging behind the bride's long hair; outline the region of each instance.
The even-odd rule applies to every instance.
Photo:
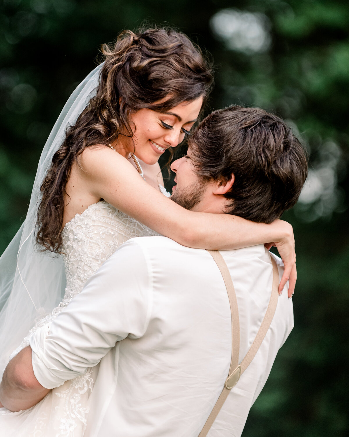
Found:
[[[41,153],[27,217],[0,258],[0,379],[10,354],[21,344],[35,319],[50,313],[64,293],[62,257],[41,252],[35,244],[40,186],[68,124],[75,123],[95,95],[102,66],[79,84],[59,115]]]

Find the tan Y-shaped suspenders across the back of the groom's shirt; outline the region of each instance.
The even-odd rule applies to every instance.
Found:
[[[226,378],[225,386],[198,437],[205,437],[207,435],[209,429],[212,426],[212,423],[215,421],[217,414],[219,413],[219,410],[222,408],[222,405],[224,404],[226,398],[228,397],[230,390],[239,381],[240,376],[243,374],[243,372],[246,370],[246,368],[249,366],[254,356],[256,355],[257,350],[262,344],[262,341],[267,333],[267,330],[269,329],[270,323],[273,320],[274,313],[277,306],[277,299],[279,297],[279,293],[278,293],[279,271],[277,269],[277,265],[274,258],[270,256],[271,263],[273,264],[273,286],[271,290],[269,305],[265,313],[264,319],[257,332],[256,338],[253,340],[253,343],[250,349],[248,350],[247,354],[243,358],[243,361],[241,361],[241,363],[239,364],[240,323],[239,323],[239,310],[237,306],[233,281],[222,255],[217,250],[208,250],[208,252],[212,255],[213,259],[216,261],[216,264],[222,274],[224,283],[226,284],[226,291],[228,292],[230,312],[232,318],[233,344],[232,344],[232,357],[230,361],[229,375],[228,378]]]

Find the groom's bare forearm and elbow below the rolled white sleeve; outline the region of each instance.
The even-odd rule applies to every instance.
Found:
[[[0,406],[10,411],[30,408],[50,390],[35,378],[31,364],[31,347],[27,346],[7,365],[0,385]]]

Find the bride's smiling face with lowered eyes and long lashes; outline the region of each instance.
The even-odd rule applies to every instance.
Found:
[[[127,158],[135,153],[144,163],[155,164],[166,149],[176,147],[183,141],[197,120],[201,107],[202,97],[199,97],[164,113],[140,109],[130,119],[135,125],[133,138],[120,136],[118,152]]]

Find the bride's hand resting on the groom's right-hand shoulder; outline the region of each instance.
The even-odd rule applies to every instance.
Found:
[[[269,250],[271,246],[277,247],[279,254],[284,262],[284,274],[281,277],[281,282],[279,285],[279,294],[281,294],[286,282],[288,284],[288,297],[291,298],[294,293],[294,287],[297,280],[297,268],[296,268],[296,253],[294,251],[294,235],[293,228],[290,223],[284,222],[284,220],[278,220],[279,225],[283,229],[283,237],[279,241],[274,243],[267,243],[265,246]]]

